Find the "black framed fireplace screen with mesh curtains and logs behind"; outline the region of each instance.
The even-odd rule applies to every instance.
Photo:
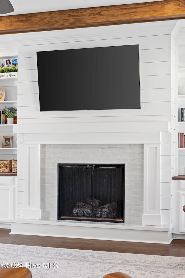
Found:
[[[124,164],[58,164],[58,220],[124,222]]]

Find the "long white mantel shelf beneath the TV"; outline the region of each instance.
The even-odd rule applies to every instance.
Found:
[[[14,133],[127,133],[127,132],[169,132],[169,122],[68,122],[17,124]]]

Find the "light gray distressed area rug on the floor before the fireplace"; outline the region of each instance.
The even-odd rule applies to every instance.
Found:
[[[3,262],[27,263],[33,278],[102,278],[111,272],[124,272],[133,278],[185,277],[182,257],[0,244]],[[58,268],[52,268],[54,263]],[[35,264],[40,268],[34,268]]]

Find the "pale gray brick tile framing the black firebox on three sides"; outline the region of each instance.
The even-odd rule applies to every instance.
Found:
[[[141,224],[143,144],[47,144],[40,146],[41,219],[57,217],[57,163],[125,163],[125,223]]]

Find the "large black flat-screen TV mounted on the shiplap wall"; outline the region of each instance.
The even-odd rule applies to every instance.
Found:
[[[37,52],[40,111],[139,109],[139,46]]]

